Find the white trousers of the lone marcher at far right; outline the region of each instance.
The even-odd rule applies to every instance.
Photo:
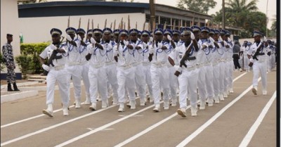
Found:
[[[267,87],[267,77],[266,77],[266,62],[254,62],[253,65],[253,87],[258,87],[259,74],[261,74],[261,83],[263,85],[263,90]]]

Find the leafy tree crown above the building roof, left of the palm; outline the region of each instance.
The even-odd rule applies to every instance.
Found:
[[[179,0],[178,8],[207,14],[210,8],[216,6],[214,0]]]

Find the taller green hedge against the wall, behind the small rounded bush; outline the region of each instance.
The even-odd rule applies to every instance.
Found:
[[[21,54],[20,56],[28,56],[28,59],[20,58],[20,59],[18,59],[19,62],[20,62],[20,60],[22,60],[22,61],[30,60],[30,62],[28,62],[28,66],[25,67],[27,69],[22,69],[22,70],[26,71],[27,73],[31,73],[31,74],[39,74],[39,73],[43,72],[41,63],[39,62],[39,55],[42,51],[44,51],[44,49],[49,44],[51,44],[51,43],[46,42],[46,43],[39,43],[39,44],[20,44],[20,54]],[[17,63],[18,63],[18,61],[17,61]],[[20,65],[20,64],[18,63],[18,65]]]

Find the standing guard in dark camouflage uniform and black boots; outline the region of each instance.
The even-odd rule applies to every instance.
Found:
[[[13,46],[11,46],[12,41],[13,34],[7,34],[7,43],[2,47],[2,52],[7,67],[8,91],[20,91],[17,87],[17,84],[15,84],[15,62],[13,59]],[[13,89],[11,84],[13,84]]]

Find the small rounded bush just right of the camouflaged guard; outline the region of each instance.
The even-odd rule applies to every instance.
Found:
[[[23,79],[27,78],[27,71],[30,70],[30,63],[32,63],[32,56],[20,55],[15,57],[15,61],[18,63],[20,71],[22,72]]]

